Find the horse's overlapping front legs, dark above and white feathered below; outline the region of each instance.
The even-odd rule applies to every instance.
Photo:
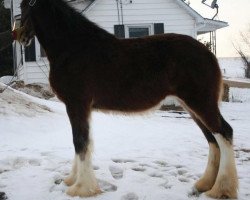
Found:
[[[100,189],[91,162],[92,144],[88,124],[90,112],[87,106],[76,103],[68,104],[66,108],[72,126],[76,153],[72,172],[65,179],[65,183],[70,185],[67,194],[81,197],[93,196],[100,193]]]

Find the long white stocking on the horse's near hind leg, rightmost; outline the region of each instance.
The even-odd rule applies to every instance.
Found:
[[[207,192],[214,198],[237,198],[238,178],[233,145],[221,134],[215,134],[220,147],[220,167],[213,188]]]

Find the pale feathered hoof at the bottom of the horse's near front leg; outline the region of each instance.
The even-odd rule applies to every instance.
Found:
[[[101,194],[101,190],[99,187],[96,188],[86,188],[82,186],[81,184],[74,184],[71,187],[68,188],[67,194],[69,196],[75,197],[91,197],[91,196],[96,196],[98,194]]]

